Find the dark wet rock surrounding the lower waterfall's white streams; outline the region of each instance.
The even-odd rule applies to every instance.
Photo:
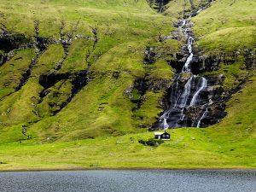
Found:
[[[167,123],[170,127],[184,127],[184,126],[194,126],[198,125],[199,120],[206,112],[204,106],[207,105],[207,113],[201,119],[200,127],[207,127],[209,125],[214,125],[219,122],[220,119],[223,119],[226,113],[225,102],[230,99],[232,91],[224,90],[219,86],[219,79],[216,77],[205,77],[207,79],[207,89],[201,90],[200,94],[196,99],[196,104],[191,105],[193,97],[195,96],[196,91],[199,90],[201,84],[201,78],[196,77],[191,80],[191,88],[189,96],[186,98],[186,106],[182,107],[177,97],[182,98],[182,94],[185,89],[185,84],[187,81],[182,81],[179,84],[173,82],[172,87],[169,88],[168,94],[163,100],[163,105],[166,106],[166,109],[172,108],[168,113]],[[176,86],[179,86],[178,88]],[[177,91],[178,90],[178,91]],[[190,104],[189,104],[190,103]],[[177,106],[177,107],[175,107]],[[163,113],[160,114],[160,116]],[[183,116],[183,118],[180,118]],[[159,130],[160,122],[156,122],[150,131]]]

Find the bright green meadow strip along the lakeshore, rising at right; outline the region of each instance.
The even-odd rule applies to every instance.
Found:
[[[0,147],[2,170],[96,167],[255,168],[256,78],[229,102],[228,117],[207,129],[170,131],[158,148],[138,143],[153,133],[66,143],[9,143]]]

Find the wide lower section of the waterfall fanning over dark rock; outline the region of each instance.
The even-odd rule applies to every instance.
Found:
[[[204,77],[190,77],[186,83],[176,79],[172,85],[169,95],[170,107],[160,116],[159,125],[164,129],[178,128],[183,126],[197,126],[201,117],[207,114],[198,113],[194,119],[187,113],[189,108],[206,110],[208,105],[207,79]],[[201,125],[201,124],[200,124]]]

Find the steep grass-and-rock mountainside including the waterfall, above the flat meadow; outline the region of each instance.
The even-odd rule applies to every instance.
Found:
[[[29,0],[0,5],[0,125],[19,133],[15,141],[162,129],[170,108],[164,118],[170,128],[214,125],[255,67],[253,15],[242,24],[223,18],[241,3],[48,6]],[[245,31],[244,41],[233,41]]]

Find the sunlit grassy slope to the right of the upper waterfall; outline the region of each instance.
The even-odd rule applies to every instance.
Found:
[[[209,73],[216,76],[224,74],[224,88],[236,86],[239,80],[247,78],[245,49],[256,50],[255,6],[254,1],[221,0],[193,19],[198,38],[196,46],[203,55],[236,57],[232,65],[221,63],[218,71]],[[255,60],[256,55],[251,57]]]

